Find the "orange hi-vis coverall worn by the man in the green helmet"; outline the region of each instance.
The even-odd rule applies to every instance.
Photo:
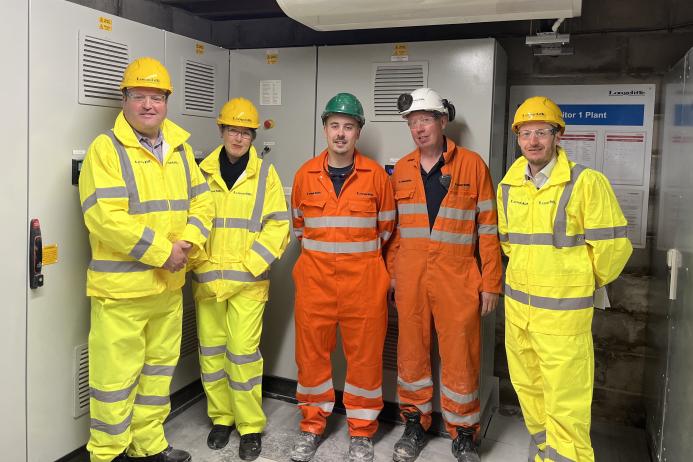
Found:
[[[322,434],[332,412],[330,353],[339,325],[347,360],[349,433],[371,437],[383,407],[390,277],[381,249],[395,223],[392,187],[380,165],[355,151],[354,170],[337,197],[323,151],[296,174],[291,205],[302,245],[293,270],[301,430]]]

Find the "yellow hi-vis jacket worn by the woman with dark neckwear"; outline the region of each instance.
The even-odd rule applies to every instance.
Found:
[[[274,166],[250,147],[248,165],[231,189],[221,177],[219,146],[200,164],[214,199],[212,234],[191,262],[195,300],[232,295],[267,300],[269,267],[289,242],[284,188]]]

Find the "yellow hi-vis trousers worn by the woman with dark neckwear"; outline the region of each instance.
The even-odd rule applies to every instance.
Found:
[[[261,433],[260,335],[265,302],[240,294],[218,302],[197,303],[200,370],[207,414],[215,425],[236,424],[240,435]]]

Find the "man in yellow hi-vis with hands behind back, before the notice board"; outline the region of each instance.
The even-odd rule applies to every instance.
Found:
[[[535,462],[594,461],[594,294],[632,253],[609,181],[568,159],[558,145],[564,130],[550,99],[522,103],[513,122],[522,157],[497,196],[509,258],[505,346]]]

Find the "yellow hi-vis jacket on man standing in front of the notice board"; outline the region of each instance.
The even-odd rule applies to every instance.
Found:
[[[633,251],[626,219],[606,177],[563,148],[541,189],[526,169],[516,160],[498,186],[506,319],[544,334],[588,332],[595,288],[616,279]]]

